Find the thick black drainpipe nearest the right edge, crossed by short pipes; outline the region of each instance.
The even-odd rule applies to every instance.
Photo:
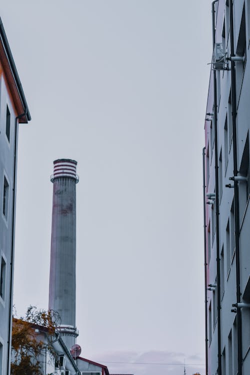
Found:
[[[229,0],[230,14],[230,47],[231,57],[234,53],[234,33],[233,33],[233,8],[232,0]],[[237,130],[236,130],[236,85],[235,85],[235,61],[231,60],[231,103],[232,103],[232,145],[233,145],[233,176],[237,176]],[[235,227],[235,264],[236,264],[236,301],[240,302],[240,258],[239,258],[239,196],[238,181],[234,179],[234,227]],[[242,328],[241,328],[241,311],[240,307],[236,307],[237,317],[237,356],[238,356],[238,375],[242,375]]]

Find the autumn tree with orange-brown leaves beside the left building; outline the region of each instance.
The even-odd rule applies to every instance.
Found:
[[[59,325],[59,315],[53,310],[27,308],[24,317],[13,318],[11,342],[11,375],[40,375],[45,352],[50,357],[56,354],[51,341],[55,327]]]

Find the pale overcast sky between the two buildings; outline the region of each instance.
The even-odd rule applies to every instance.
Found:
[[[32,117],[19,127],[17,313],[47,308],[49,176],[73,158],[82,356],[203,375],[210,1],[1,0],[0,16]]]

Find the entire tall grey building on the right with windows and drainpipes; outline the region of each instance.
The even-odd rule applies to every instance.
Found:
[[[206,374],[250,373],[250,0],[212,2],[205,118]]]

